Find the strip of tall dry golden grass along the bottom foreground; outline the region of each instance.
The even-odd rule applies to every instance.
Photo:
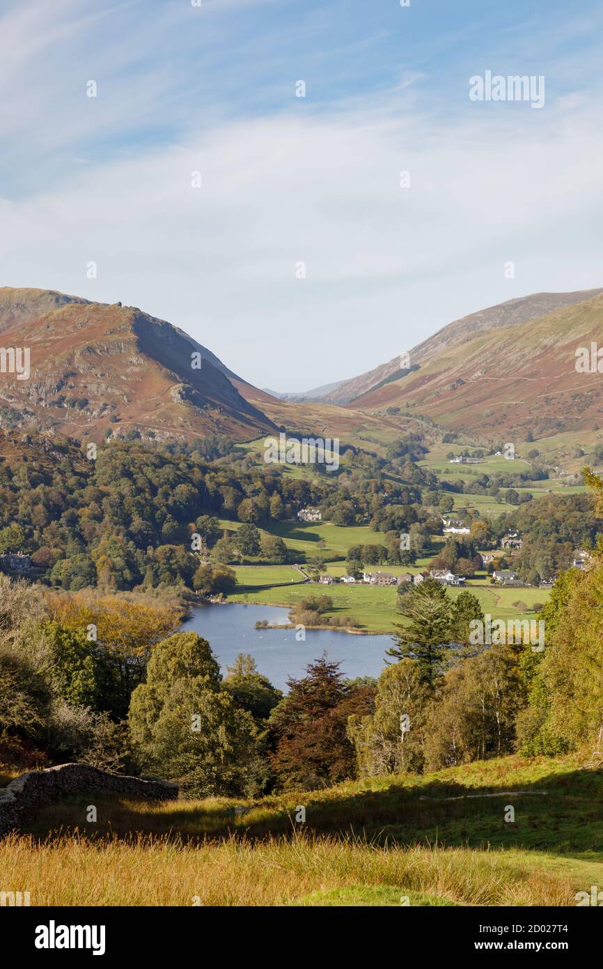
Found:
[[[466,905],[575,904],[568,881],[534,870],[521,852],[377,847],[296,835],[252,844],[230,838],[0,843],[3,884],[32,905],[286,905],[313,891],[393,886]],[[198,902],[197,902],[198,904]]]

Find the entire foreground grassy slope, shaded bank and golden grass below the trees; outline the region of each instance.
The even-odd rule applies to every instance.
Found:
[[[585,759],[507,757],[246,804],[74,797],[4,841],[0,867],[35,886],[32,904],[573,905],[603,880],[603,774]]]

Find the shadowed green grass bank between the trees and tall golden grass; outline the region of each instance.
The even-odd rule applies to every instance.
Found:
[[[579,753],[532,761],[516,755],[433,774],[390,774],[256,801],[207,797],[161,803],[82,793],[41,809],[24,831],[41,840],[77,828],[91,838],[130,837],[137,831],[183,841],[231,835],[260,841],[290,837],[299,830],[295,815],[297,805],[303,805],[303,829],[314,835],[363,836],[380,844],[528,848],[564,855],[598,852],[603,838],[603,773],[583,769],[584,763],[585,755]],[[523,794],[507,797],[511,792]],[[491,794],[498,796],[480,797]],[[98,818],[88,824],[90,803],[97,806]],[[515,808],[513,824],[504,820],[506,804]]]

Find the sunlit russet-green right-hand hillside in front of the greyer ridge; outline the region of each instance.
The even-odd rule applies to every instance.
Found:
[[[491,439],[508,434],[509,441],[525,440],[528,431],[540,437],[601,427],[601,375],[576,369],[580,347],[603,346],[603,296],[590,293],[537,319],[522,319],[531,309],[516,305],[511,314],[486,317],[489,325],[475,321],[463,332],[453,324],[450,338],[444,328],[417,348],[416,357],[411,352],[411,360],[420,360],[416,370],[356,397],[351,406],[373,415],[399,407]],[[563,295],[570,296],[577,295]]]

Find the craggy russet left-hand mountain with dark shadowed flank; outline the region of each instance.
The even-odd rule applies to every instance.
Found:
[[[241,392],[261,391],[181,329],[135,306],[3,288],[0,333],[5,348],[29,347],[31,368],[28,379],[0,373],[0,428],[92,441],[132,430],[243,441],[276,427]]]

